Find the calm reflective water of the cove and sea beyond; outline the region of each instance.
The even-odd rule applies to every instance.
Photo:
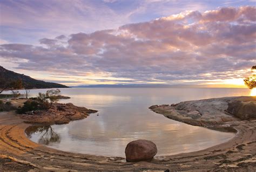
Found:
[[[45,91],[32,90],[30,95]],[[137,139],[156,143],[157,155],[161,156],[205,149],[234,136],[167,119],[150,111],[151,105],[250,95],[245,88],[64,88],[61,91],[71,99],[59,102],[72,102],[99,112],[66,125],[32,127],[27,130],[28,137],[68,152],[122,157],[127,143]]]

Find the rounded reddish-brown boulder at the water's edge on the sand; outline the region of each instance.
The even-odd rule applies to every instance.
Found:
[[[157,146],[149,140],[134,140],[125,148],[126,161],[150,161],[157,154]]]

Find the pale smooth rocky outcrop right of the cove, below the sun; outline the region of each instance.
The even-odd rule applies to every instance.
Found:
[[[226,97],[179,104],[154,105],[152,111],[195,126],[220,126],[230,121],[256,118],[256,97]]]

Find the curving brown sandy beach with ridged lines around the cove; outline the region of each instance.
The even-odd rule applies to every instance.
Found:
[[[14,112],[0,113],[0,170],[256,171],[256,120],[239,121],[234,126],[237,135],[221,145],[137,163],[128,163],[122,157],[68,153],[44,147],[25,136],[24,130],[29,126]]]

